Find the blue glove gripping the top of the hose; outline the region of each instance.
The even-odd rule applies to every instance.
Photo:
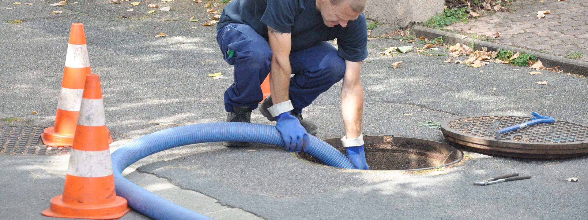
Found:
[[[278,120],[276,128],[282,134],[282,140],[287,151],[300,153],[303,147],[308,146],[310,143],[309,134],[300,125],[298,118],[290,115],[290,111],[276,116],[276,120]]]

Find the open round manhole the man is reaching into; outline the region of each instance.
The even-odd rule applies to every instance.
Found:
[[[370,170],[426,170],[455,164],[462,160],[459,149],[437,141],[412,137],[363,136],[366,163]],[[340,138],[323,140],[342,154]],[[298,153],[300,158],[312,163],[323,164],[306,153]]]

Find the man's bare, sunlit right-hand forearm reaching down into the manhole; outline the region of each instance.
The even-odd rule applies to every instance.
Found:
[[[359,82],[360,62],[345,60],[345,76],[341,87],[341,113],[346,138],[362,134],[363,89]]]

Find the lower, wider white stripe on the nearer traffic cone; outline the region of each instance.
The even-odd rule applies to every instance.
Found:
[[[110,150],[82,151],[72,149],[68,174],[76,177],[106,177],[112,174]]]

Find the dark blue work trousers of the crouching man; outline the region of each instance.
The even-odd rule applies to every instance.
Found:
[[[270,72],[272,50],[268,40],[249,25],[231,23],[216,31],[216,41],[229,65],[235,66],[233,84],[225,91],[225,110],[233,106],[256,109],[263,99],[260,88]],[[329,42],[290,52],[290,100],[295,113],[309,106],[345,75],[345,59]]]

